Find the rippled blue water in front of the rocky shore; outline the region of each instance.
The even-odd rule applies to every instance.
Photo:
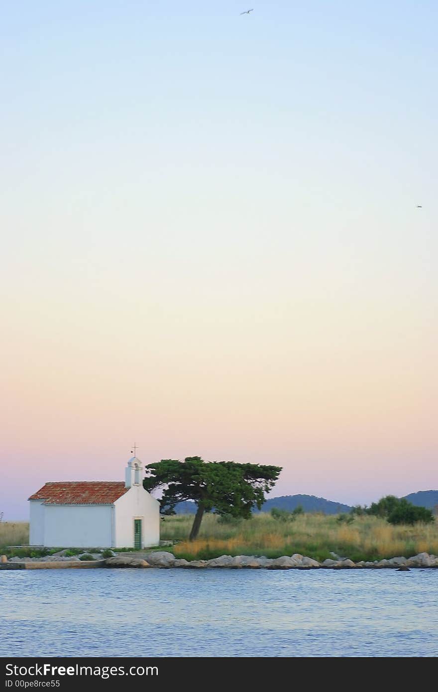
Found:
[[[438,655],[438,570],[0,572],[1,656]]]

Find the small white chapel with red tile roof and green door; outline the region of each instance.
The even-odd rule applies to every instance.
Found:
[[[30,545],[137,548],[159,545],[160,503],[129,459],[123,481],[46,483],[30,495]]]

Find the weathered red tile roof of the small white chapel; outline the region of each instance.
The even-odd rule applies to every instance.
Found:
[[[129,488],[123,481],[60,481],[46,483],[29,500],[44,504],[113,504]]]

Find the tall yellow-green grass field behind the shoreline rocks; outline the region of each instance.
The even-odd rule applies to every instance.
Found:
[[[391,526],[383,519],[357,517],[352,524],[336,516],[303,514],[293,522],[281,522],[260,513],[250,520],[220,524],[217,516],[204,516],[199,538],[189,543],[193,517],[166,516],[161,520],[161,538],[179,540],[172,549],[178,557],[208,559],[219,555],[266,555],[280,557],[301,553],[322,561],[335,552],[359,560],[377,560],[420,552],[438,554],[438,520],[431,525]],[[28,543],[26,522],[0,522],[1,546]],[[4,552],[4,551],[3,551]]]

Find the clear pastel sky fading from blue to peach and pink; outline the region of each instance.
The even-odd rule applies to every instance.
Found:
[[[3,519],[134,441],[438,488],[438,5],[252,7],[2,4]]]

